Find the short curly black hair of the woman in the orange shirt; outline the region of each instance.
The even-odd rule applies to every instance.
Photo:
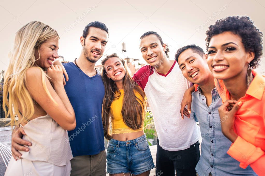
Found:
[[[209,42],[214,35],[218,35],[225,31],[231,31],[239,35],[245,47],[245,51],[253,51],[255,53],[254,59],[250,62],[250,66],[255,69],[259,66],[260,56],[262,56],[262,37],[253,21],[246,16],[232,16],[217,20],[214,25],[209,26],[206,32],[206,50],[208,51]]]

